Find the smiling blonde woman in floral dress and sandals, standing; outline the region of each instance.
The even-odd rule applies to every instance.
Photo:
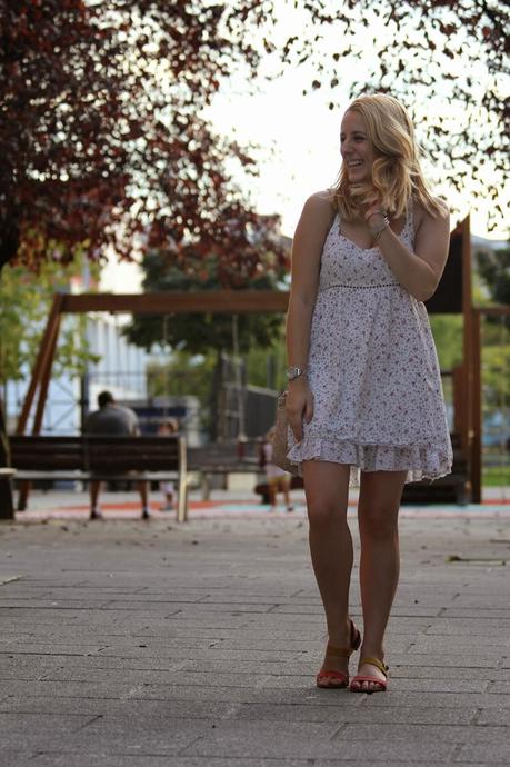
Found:
[[[429,191],[397,99],[362,96],[341,123],[336,187],[306,202],[287,316],[288,457],[304,479],[310,550],[329,641],[319,687],[387,688],[383,637],[399,578],[404,482],[451,471],[427,310],[448,256],[449,213]],[[349,617],[349,479],[360,472],[363,639]]]

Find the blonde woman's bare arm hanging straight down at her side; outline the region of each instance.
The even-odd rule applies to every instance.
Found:
[[[319,285],[320,257],[334,209],[328,192],[312,195],[299,219],[292,242],[292,282],[287,311],[287,358],[289,366],[307,368],[310,327]],[[302,419],[313,416],[313,398],[307,376],[289,382],[287,412],[298,440]]]

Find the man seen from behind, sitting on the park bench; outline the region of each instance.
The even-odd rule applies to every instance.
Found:
[[[137,414],[130,408],[117,405],[111,391],[101,391],[98,396],[99,410],[89,414],[83,426],[83,432],[88,435],[108,435],[122,437],[123,435],[139,435]],[[90,519],[100,519],[98,509],[99,490],[101,482],[97,479],[90,481]],[[149,518],[147,482],[139,482],[142,505],[142,518]]]

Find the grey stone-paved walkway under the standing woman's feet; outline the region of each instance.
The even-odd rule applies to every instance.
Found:
[[[372,696],[314,687],[302,507],[214,508],[0,526],[2,767],[510,764],[508,506],[403,509]]]

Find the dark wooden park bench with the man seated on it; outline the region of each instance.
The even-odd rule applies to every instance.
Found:
[[[188,519],[186,437],[13,436],[10,438],[12,478],[3,481],[164,481],[177,479],[178,521]],[[0,478],[1,479],[1,478]],[[26,507],[22,488],[18,509]]]

